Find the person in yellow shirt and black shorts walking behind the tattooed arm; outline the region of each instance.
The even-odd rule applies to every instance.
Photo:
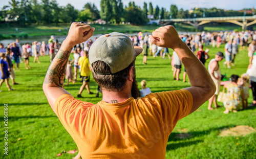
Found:
[[[81,76],[82,76],[82,85],[80,87],[79,93],[77,97],[82,97],[81,93],[84,90],[84,88],[87,89],[88,94],[93,94],[90,92],[90,75],[91,75],[91,69],[90,69],[90,63],[88,59],[88,51],[84,51],[84,56],[81,56],[78,59],[78,65],[81,67]]]

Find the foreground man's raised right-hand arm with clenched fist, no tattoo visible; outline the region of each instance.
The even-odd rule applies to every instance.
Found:
[[[156,29],[150,35],[150,38],[152,43],[157,46],[172,48],[184,64],[191,84],[191,87],[185,89],[193,96],[193,106],[190,113],[194,112],[214,95],[216,91],[214,81],[212,81],[202,62],[191,52],[186,43],[179,38],[173,26]]]

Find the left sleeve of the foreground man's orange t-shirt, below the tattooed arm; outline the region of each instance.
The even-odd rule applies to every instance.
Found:
[[[62,125],[71,134],[76,128],[84,125],[85,120],[81,118],[87,113],[89,107],[94,104],[75,99],[65,94],[57,98],[54,104],[55,113]]]

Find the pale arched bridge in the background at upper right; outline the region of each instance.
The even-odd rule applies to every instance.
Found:
[[[208,22],[230,22],[242,27],[243,30],[248,26],[256,24],[256,15],[253,16],[224,16],[224,17],[204,17],[204,18],[183,18],[183,19],[161,19],[163,25],[172,24],[174,22],[185,22],[195,28]]]

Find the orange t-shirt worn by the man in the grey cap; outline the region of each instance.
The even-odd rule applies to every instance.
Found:
[[[188,90],[97,104],[61,95],[55,112],[82,158],[165,158],[170,132],[193,105]]]

